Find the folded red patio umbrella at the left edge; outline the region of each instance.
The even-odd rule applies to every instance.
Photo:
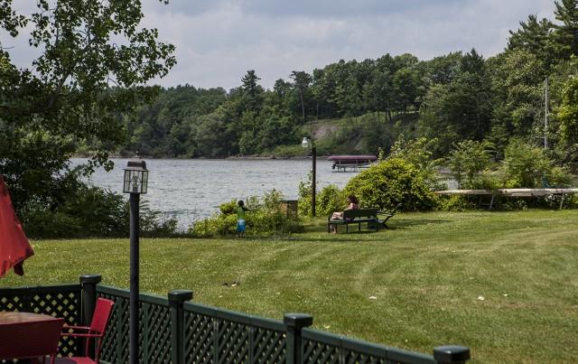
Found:
[[[23,262],[34,255],[33,247],[16,218],[8,188],[0,174],[0,277],[14,267],[14,273],[23,275]]]

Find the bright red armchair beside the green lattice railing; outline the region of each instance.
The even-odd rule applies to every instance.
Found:
[[[108,319],[110,313],[112,312],[112,306],[114,301],[107,300],[105,298],[97,299],[97,307],[92,315],[92,322],[90,326],[64,326],[64,332],[61,336],[76,337],[76,338],[86,338],[85,353],[89,355],[90,339],[96,341],[96,357],[95,359],[90,359],[89,356],[86,357],[68,357],[68,358],[57,358],[56,364],[98,364],[100,360],[100,348],[102,347],[102,339],[107,331]]]

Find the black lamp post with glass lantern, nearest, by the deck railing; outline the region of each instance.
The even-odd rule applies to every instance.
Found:
[[[148,170],[146,163],[136,157],[126,163],[123,192],[130,193],[130,303],[129,303],[129,362],[138,363],[138,205],[140,194],[146,193]]]

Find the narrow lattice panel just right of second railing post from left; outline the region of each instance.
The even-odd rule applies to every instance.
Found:
[[[184,312],[184,357],[186,363],[214,361],[213,318],[204,314]]]

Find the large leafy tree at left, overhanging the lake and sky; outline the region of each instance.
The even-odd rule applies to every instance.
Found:
[[[37,210],[40,221],[63,226],[74,223],[63,216],[77,203],[70,199],[79,198],[68,193],[79,177],[70,172],[70,156],[89,142],[84,172],[111,168],[108,154],[125,142],[121,116],[151,100],[156,89],[143,86],[172,68],[174,47],[142,26],[138,1],[39,0],[29,17],[11,5],[2,1],[0,27],[11,36],[30,32],[39,56],[28,67],[15,67],[9,51],[0,51],[0,173],[20,213],[32,217]]]

